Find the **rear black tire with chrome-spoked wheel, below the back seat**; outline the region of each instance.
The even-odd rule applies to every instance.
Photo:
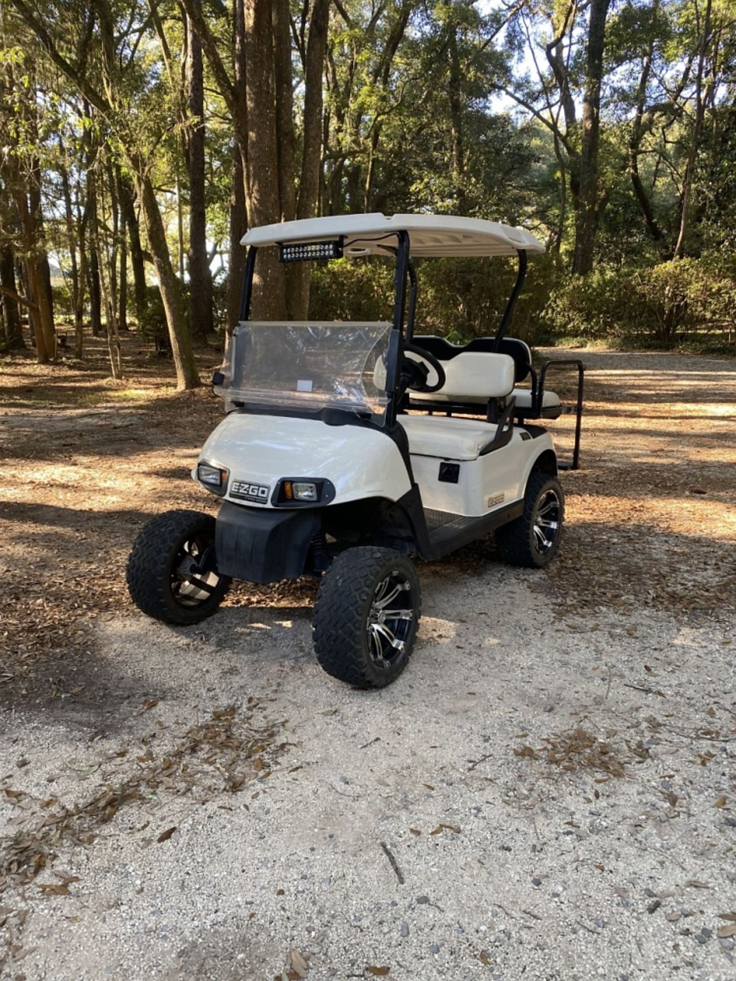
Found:
[[[533,473],[524,492],[524,513],[496,532],[501,557],[510,565],[543,568],[559,548],[563,520],[564,493],[559,481],[549,474]]]

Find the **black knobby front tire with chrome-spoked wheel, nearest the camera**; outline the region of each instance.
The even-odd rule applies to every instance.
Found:
[[[396,596],[379,608],[396,587]],[[314,605],[317,660],[355,688],[384,688],[406,666],[421,612],[419,579],[409,558],[393,548],[347,548],[325,573]],[[382,655],[380,645],[386,647]]]

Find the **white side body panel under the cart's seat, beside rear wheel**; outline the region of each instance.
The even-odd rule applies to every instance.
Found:
[[[523,433],[524,430],[514,429],[509,442],[500,449],[475,460],[458,460],[457,484],[438,480],[440,457],[412,453],[411,467],[424,506],[465,517],[479,517],[520,500],[534,461],[546,449],[553,449],[549,433],[537,439],[524,439]],[[450,460],[450,457],[442,459]]]

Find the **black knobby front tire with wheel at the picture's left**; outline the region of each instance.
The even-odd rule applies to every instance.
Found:
[[[178,626],[212,616],[230,587],[230,579],[218,575],[214,548],[215,519],[209,514],[177,510],[152,518],[128,559],[132,601],[154,620]],[[186,571],[198,560],[200,572]]]

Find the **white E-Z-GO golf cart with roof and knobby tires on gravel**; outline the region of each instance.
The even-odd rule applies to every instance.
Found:
[[[409,555],[437,559],[494,533],[500,554],[541,567],[560,541],[564,498],[549,433],[563,411],[529,347],[504,336],[543,245],[495,222],[440,215],[346,215],[251,229],[240,321],[213,379],[228,414],[192,477],[222,498],[217,519],[169,511],[138,536],[128,564],[136,605],[171,624],[214,613],[232,578],[320,579],[314,645],[322,667],[360,688],[404,668],[420,617]],[[395,264],[392,320],[249,320],[258,252],[283,262],[367,255]],[[412,259],[517,255],[496,336],[456,346],[415,336]],[[520,384],[530,380],[529,387]]]

